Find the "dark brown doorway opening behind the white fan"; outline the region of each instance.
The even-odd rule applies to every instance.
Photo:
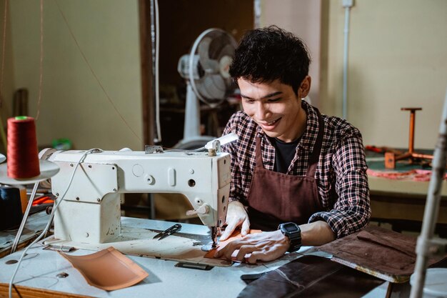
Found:
[[[163,145],[171,147],[184,136],[186,82],[177,71],[180,57],[189,54],[206,29],[220,28],[236,41],[241,39],[246,30],[253,29],[253,0],[159,0],[159,10],[161,135]],[[204,134],[219,135],[235,108],[222,104],[211,111],[202,104]]]

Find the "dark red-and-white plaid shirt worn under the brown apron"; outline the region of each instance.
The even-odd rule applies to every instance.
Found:
[[[306,101],[302,101],[301,106],[307,114],[306,131],[286,174],[305,176],[318,134],[318,116],[315,108]],[[365,227],[371,216],[365,152],[358,129],[338,117],[321,116],[324,136],[315,178],[324,211],[313,214],[308,222],[327,222],[339,238]],[[275,162],[275,148],[262,129],[243,111],[231,116],[224,134],[231,131],[239,139],[223,146],[223,150],[231,154],[230,200],[246,205],[256,165],[256,136],[261,136],[263,166],[270,171],[273,171]]]

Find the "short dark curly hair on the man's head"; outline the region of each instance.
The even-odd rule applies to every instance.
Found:
[[[236,83],[239,78],[255,83],[279,79],[298,94],[310,63],[311,58],[301,39],[278,26],[268,26],[246,32],[229,71]]]

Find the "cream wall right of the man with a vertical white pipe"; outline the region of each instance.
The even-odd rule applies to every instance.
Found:
[[[344,9],[341,1],[325,5],[321,103],[340,116]],[[407,148],[409,113],[401,107],[422,107],[415,148],[433,149],[447,87],[447,1],[356,0],[350,26],[348,120],[365,144]]]

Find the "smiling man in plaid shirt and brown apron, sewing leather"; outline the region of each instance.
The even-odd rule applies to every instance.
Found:
[[[243,111],[224,131],[239,139],[224,147],[232,178],[221,241],[238,227],[243,237],[215,257],[231,259],[238,250],[239,261],[271,261],[368,224],[361,134],[302,101],[311,88],[309,63],[301,39],[276,26],[248,31],[236,49],[230,74]],[[263,232],[248,234],[250,229]]]

